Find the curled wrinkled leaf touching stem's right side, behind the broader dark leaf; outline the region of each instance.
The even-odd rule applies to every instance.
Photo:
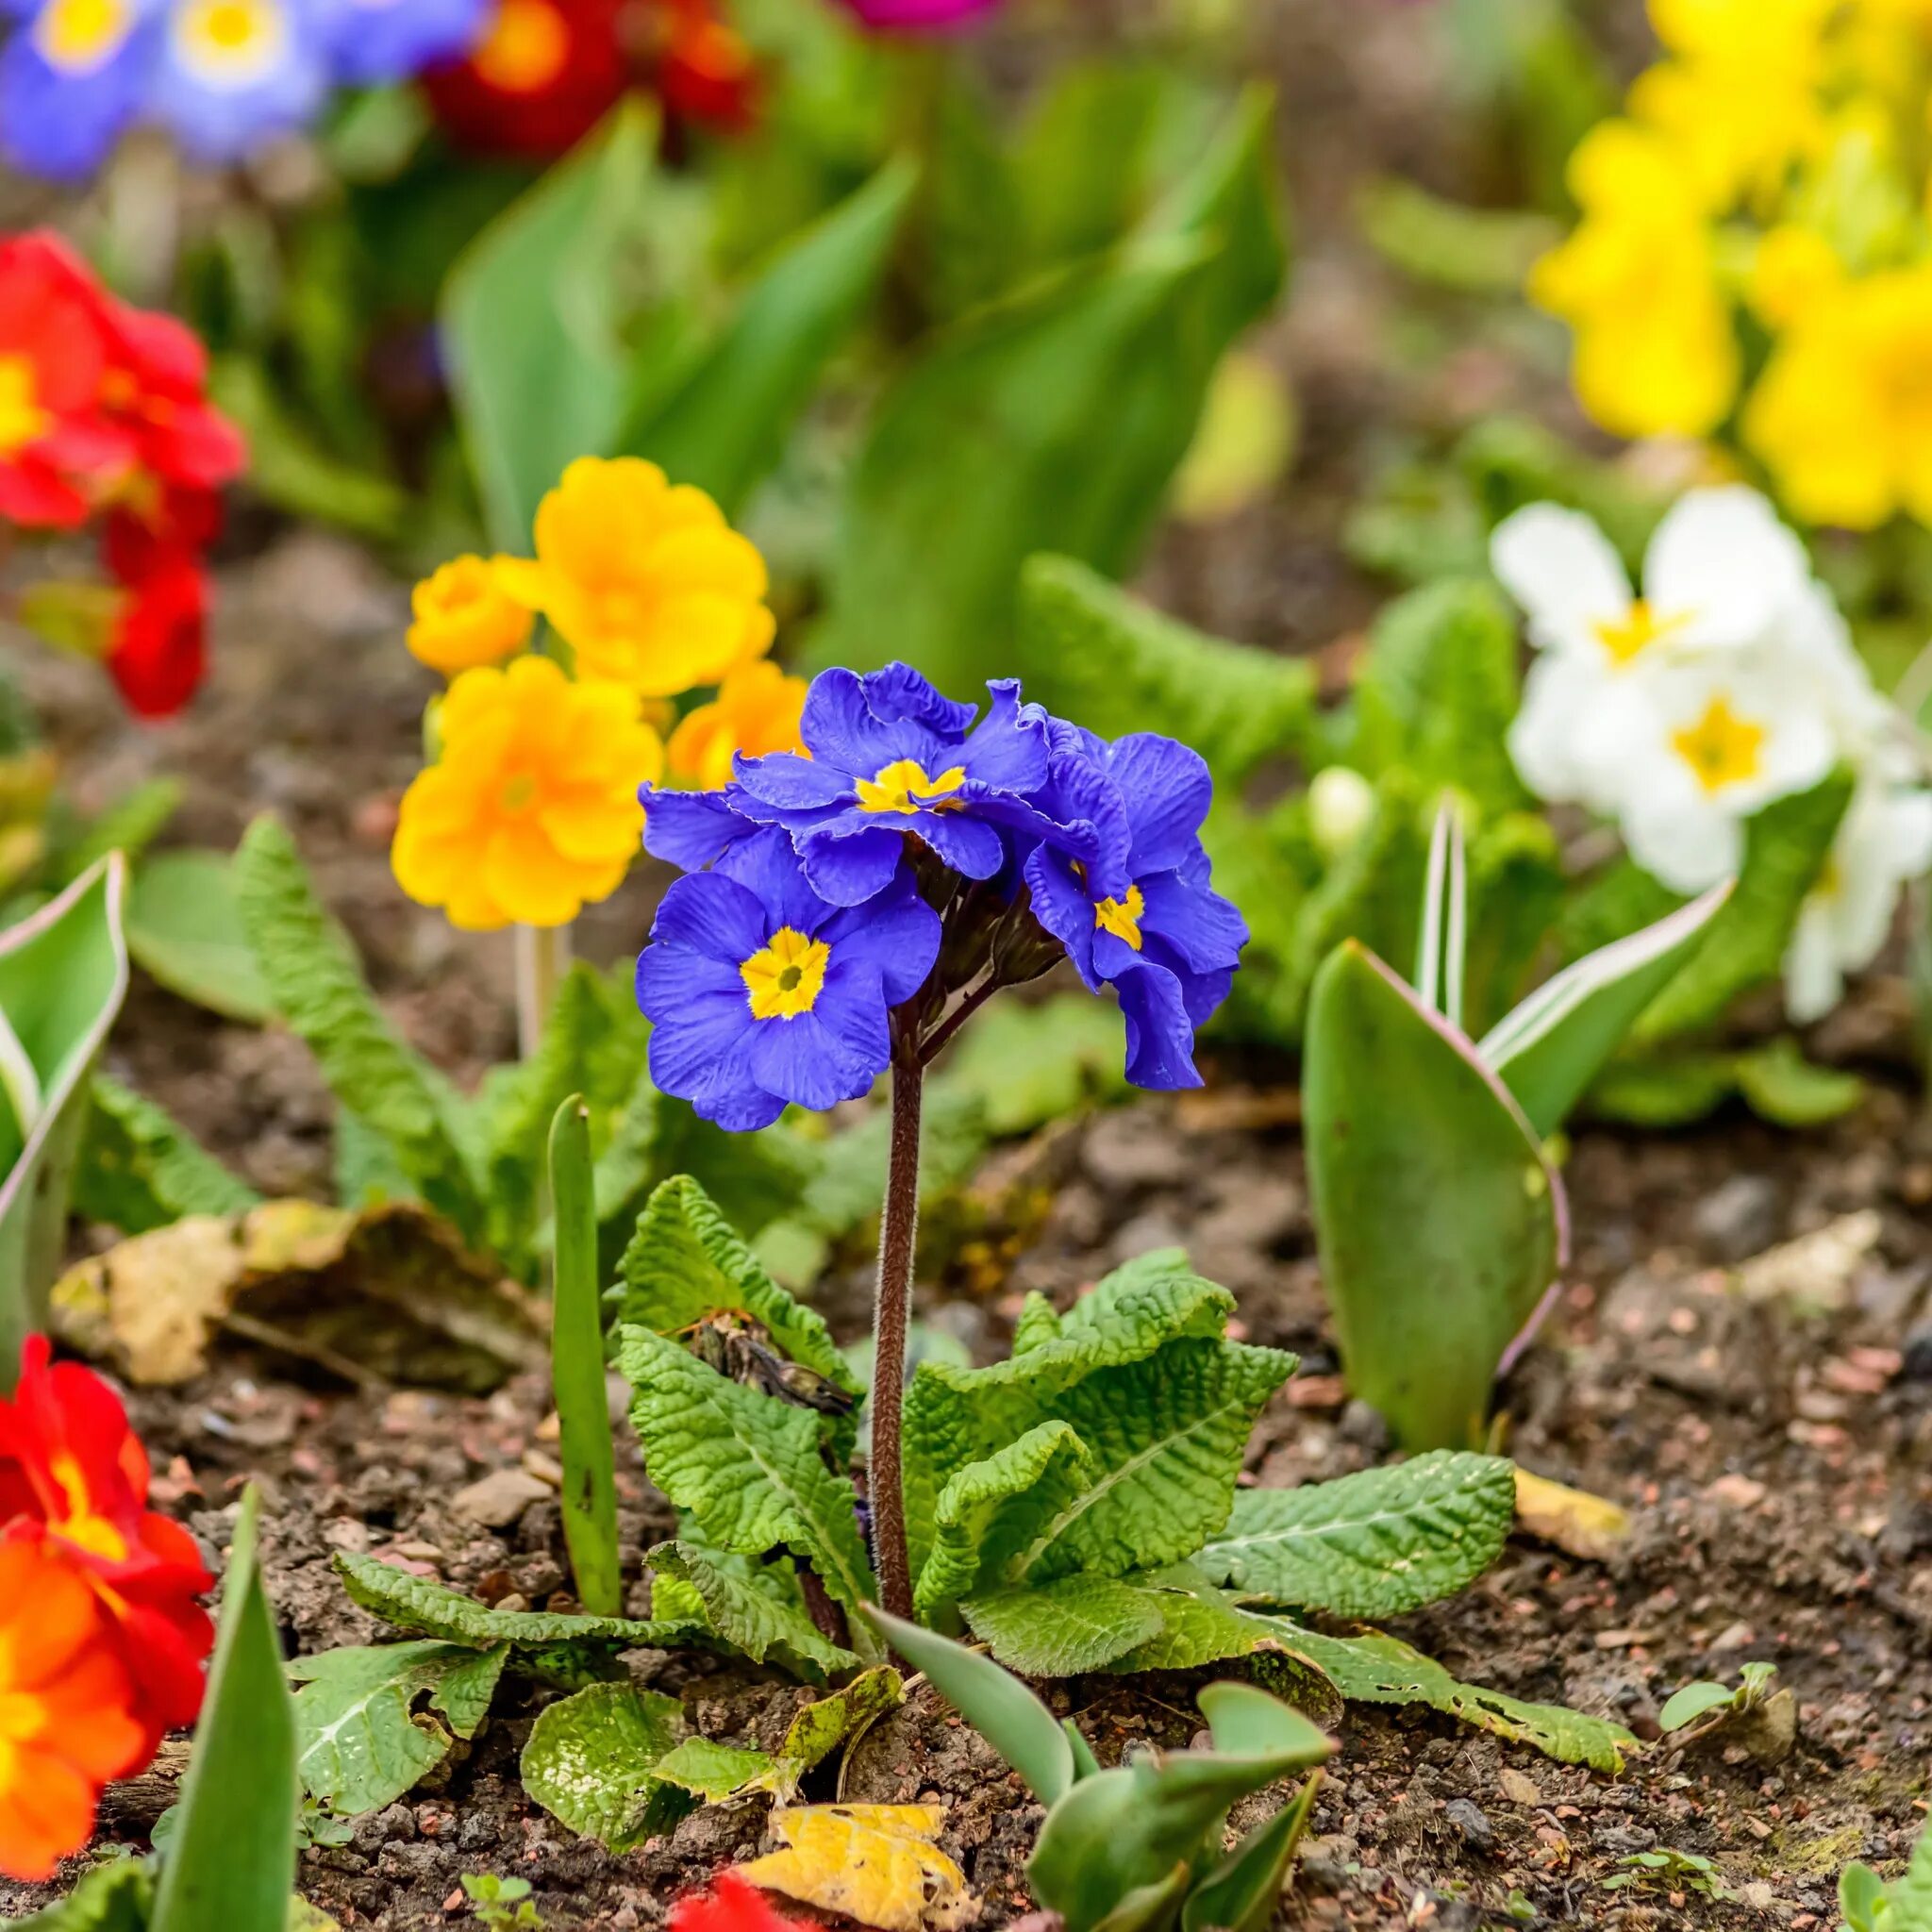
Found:
[[[906,1387],[906,1542],[914,1575],[933,1544],[939,1492],[1059,1416],[1057,1397],[1095,1370],[1144,1362],[1180,1337],[1217,1339],[1235,1296],[1188,1267],[1179,1248],[1117,1267],[1037,1347],[989,1368],[922,1362]]]

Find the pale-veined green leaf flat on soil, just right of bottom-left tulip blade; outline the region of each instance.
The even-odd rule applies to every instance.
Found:
[[[508,1644],[471,1650],[423,1638],[325,1650],[288,1675],[296,1692],[296,1768],[309,1797],[344,1818],[381,1810],[433,1772],[456,1737],[475,1735],[489,1712]],[[417,1716],[427,1696],[450,1727]]]

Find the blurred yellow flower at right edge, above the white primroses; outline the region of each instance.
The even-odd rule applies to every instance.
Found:
[[[1812,301],[1745,410],[1745,442],[1810,524],[1932,524],[1932,263]]]

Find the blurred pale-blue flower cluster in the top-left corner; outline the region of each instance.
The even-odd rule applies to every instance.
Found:
[[[205,162],[303,128],[336,85],[462,54],[491,0],[0,0],[0,156],[91,174],[135,122]]]

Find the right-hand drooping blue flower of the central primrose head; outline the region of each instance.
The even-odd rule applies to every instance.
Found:
[[[1055,721],[1049,811],[1097,823],[1092,862],[1039,844],[1026,860],[1034,918],[1092,991],[1126,1018],[1126,1078],[1200,1086],[1194,1028],[1227,999],[1248,922],[1209,883],[1202,819],[1213,779],[1200,753],[1155,732],[1111,746]]]

